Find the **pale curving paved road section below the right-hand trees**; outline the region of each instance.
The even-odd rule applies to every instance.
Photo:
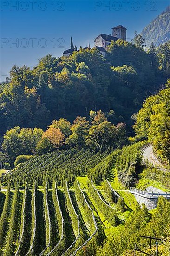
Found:
[[[163,165],[161,164],[161,162],[159,162],[157,157],[153,154],[153,147],[152,147],[152,145],[148,145],[146,148],[144,148],[142,155],[143,155],[144,159],[147,159],[155,167],[157,167],[157,168],[159,168],[161,170],[165,170],[165,168],[163,168]]]

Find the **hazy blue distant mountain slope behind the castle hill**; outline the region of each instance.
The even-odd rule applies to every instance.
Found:
[[[146,47],[154,43],[156,47],[170,40],[170,6],[152,20],[142,31]]]

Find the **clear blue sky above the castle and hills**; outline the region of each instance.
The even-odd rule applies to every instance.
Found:
[[[93,47],[98,34],[111,34],[111,28],[121,24],[131,39],[169,4],[170,0],[0,0],[0,75],[8,74],[13,65],[33,67],[49,53],[61,56],[71,36],[77,47],[89,42]]]

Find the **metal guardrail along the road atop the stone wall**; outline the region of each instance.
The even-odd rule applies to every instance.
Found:
[[[132,193],[132,194],[136,194],[136,195],[140,195],[142,197],[145,197],[145,198],[153,198],[153,199],[157,199],[159,196],[163,196],[167,199],[170,199],[170,193],[169,192],[149,192],[149,191],[146,191],[146,190],[141,190],[141,189],[136,189],[136,188],[132,188],[130,187],[129,188],[129,191]]]

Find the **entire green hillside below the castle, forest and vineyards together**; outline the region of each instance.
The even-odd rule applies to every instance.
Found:
[[[0,256],[156,256],[142,236],[170,256],[170,201],[149,211],[129,190],[170,191],[170,41],[143,48],[136,34],[106,59],[81,48],[12,67],[0,91]],[[163,168],[143,161],[148,144]]]

